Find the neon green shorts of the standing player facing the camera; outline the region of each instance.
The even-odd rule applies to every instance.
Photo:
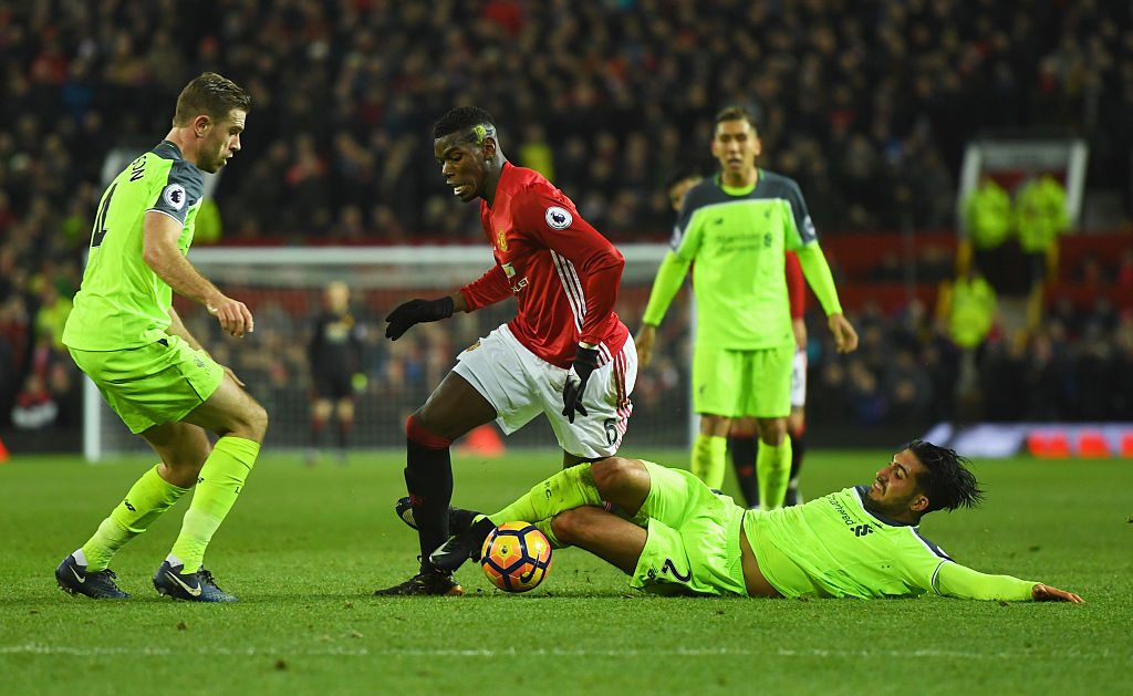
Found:
[[[730,350],[698,343],[692,351],[692,408],[729,418],[791,415],[794,345]]]

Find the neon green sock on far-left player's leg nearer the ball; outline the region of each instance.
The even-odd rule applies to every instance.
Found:
[[[193,502],[185,511],[181,533],[170,551],[171,557],[185,565],[184,572],[201,569],[208,542],[236,503],[258,455],[259,443],[254,440],[224,435],[216,441],[201,467]]]

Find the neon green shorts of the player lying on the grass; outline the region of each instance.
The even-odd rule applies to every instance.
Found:
[[[651,461],[648,537],[630,586],[655,594],[748,596],[740,534],[744,510],[690,472]]]

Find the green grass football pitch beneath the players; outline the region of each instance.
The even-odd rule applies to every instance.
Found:
[[[663,464],[684,452],[634,452]],[[804,493],[868,482],[884,451],[815,451]],[[981,509],[925,535],[957,561],[1087,603],[664,599],[578,550],[505,595],[472,565],[463,597],[376,599],[415,568],[392,512],[402,455],[308,468],[265,455],[207,563],[231,605],[159,597],[151,576],[186,501],[114,559],[126,602],[61,593],[56,565],[146,460],[0,466],[0,690],[250,693],[1117,693],[1133,670],[1133,461],[977,461]],[[554,473],[552,452],[457,458],[454,502],[495,509]],[[731,486],[731,483],[729,484]],[[733,489],[734,490],[734,489]]]

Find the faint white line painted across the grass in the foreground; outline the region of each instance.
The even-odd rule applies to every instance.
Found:
[[[169,647],[75,647],[69,645],[46,645],[42,643],[26,643],[23,645],[0,645],[0,655],[70,655],[75,657],[88,656],[112,656],[125,655],[130,657],[154,656],[171,657],[177,655],[211,655],[211,656],[265,656],[265,657],[959,657],[963,660],[1016,660],[1034,659],[1043,660],[1113,660],[1124,659],[1133,661],[1133,654],[1121,654],[1110,652],[1108,648],[1100,652],[994,652],[973,653],[965,651],[949,650],[823,650],[823,648],[769,648],[769,650],[746,650],[746,648],[678,648],[678,650],[587,650],[587,648],[536,648],[536,650],[417,650],[417,648],[382,648],[369,650],[365,647],[256,647],[228,648],[228,647],[196,647],[189,650]]]

